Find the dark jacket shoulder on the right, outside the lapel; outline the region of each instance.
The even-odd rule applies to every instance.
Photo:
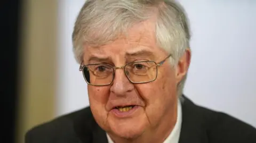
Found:
[[[210,142],[256,142],[256,129],[227,113],[199,107]]]

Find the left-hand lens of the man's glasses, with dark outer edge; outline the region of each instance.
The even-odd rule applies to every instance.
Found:
[[[114,69],[108,64],[90,64],[83,68],[84,78],[90,85],[109,85],[113,80]]]

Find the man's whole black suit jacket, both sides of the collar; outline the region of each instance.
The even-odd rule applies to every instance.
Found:
[[[179,143],[256,143],[256,129],[225,113],[182,102]],[[90,107],[38,125],[26,133],[26,143],[107,143]]]

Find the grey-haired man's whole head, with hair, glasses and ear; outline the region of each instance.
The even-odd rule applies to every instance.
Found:
[[[175,1],[86,1],[75,23],[74,53],[94,119],[111,137],[170,133],[190,63],[189,39],[185,11]]]

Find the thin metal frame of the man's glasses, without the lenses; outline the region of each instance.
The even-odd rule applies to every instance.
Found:
[[[117,69],[124,69],[124,74],[125,74],[126,78],[127,78],[130,82],[132,82],[132,83],[148,83],[148,82],[153,82],[153,81],[156,80],[157,75],[158,75],[158,69],[157,69],[158,66],[163,65],[163,63],[164,63],[169,57],[171,57],[171,54],[170,54],[169,56],[167,56],[166,58],[164,58],[164,60],[162,60],[161,62],[158,62],[158,63],[156,63],[155,61],[140,61],[140,62],[129,62],[129,63],[126,63],[126,64],[123,65],[123,66],[113,66],[113,65],[111,65],[111,64],[86,64],[86,65],[82,65],[82,64],[83,64],[83,61],[82,61],[81,64],[80,64],[80,66],[79,66],[79,71],[82,71],[84,80],[86,81],[86,83],[87,83],[88,85],[91,85],[91,86],[108,86],[108,85],[111,85],[111,83],[113,83],[113,81],[114,81],[114,79],[115,79],[115,72],[116,72]],[[129,79],[127,73],[125,72],[125,66],[127,66],[128,64],[131,64],[131,63],[141,63],[141,62],[153,62],[153,63],[156,64],[156,78],[155,78],[154,80],[150,80],[150,81],[146,81],[146,82],[133,82],[133,81],[131,81],[131,80]],[[113,71],[114,71],[114,73],[113,73],[113,79],[111,80],[111,82],[110,82],[109,84],[105,84],[105,85],[93,85],[93,84],[89,83],[89,82],[86,80],[86,78],[85,78],[85,73],[84,73],[84,68],[85,68],[86,66],[88,66],[88,65],[109,65],[111,68],[113,68]]]

